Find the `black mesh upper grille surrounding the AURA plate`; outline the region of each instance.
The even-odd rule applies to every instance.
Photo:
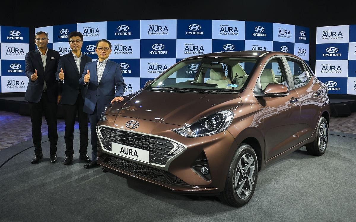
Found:
[[[173,156],[173,154],[168,155],[168,152],[171,151],[174,146],[172,142],[167,139],[106,127],[102,127],[100,132],[104,138],[100,139],[106,150],[111,151],[111,142],[148,150],[149,163],[160,165],[165,165],[168,159]]]

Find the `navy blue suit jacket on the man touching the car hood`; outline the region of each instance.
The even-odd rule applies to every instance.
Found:
[[[123,96],[126,88],[124,78],[120,65],[116,62],[108,60],[101,76],[100,83],[98,83],[98,74],[96,73],[97,60],[89,62],[85,65],[82,78],[79,79],[79,84],[88,87],[85,94],[84,109],[83,111],[88,114],[93,114],[96,106],[96,111],[101,113],[104,111],[105,106],[111,102],[116,96]],[[90,72],[89,84],[84,84],[84,76]],[[116,87],[116,93],[115,93]]]

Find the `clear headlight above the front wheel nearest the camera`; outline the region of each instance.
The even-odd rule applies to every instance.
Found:
[[[172,129],[172,131],[184,137],[204,137],[225,131],[230,126],[233,118],[234,112],[224,110],[203,117],[188,126]]]

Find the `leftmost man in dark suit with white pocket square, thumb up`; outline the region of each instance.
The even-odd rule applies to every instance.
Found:
[[[31,163],[38,163],[43,157],[41,147],[43,113],[48,126],[49,160],[54,163],[57,161],[57,104],[61,100],[60,85],[56,80],[59,53],[47,48],[48,35],[45,32],[36,33],[35,43],[37,49],[27,52],[25,56],[25,72],[30,79],[25,100],[30,106],[32,140],[35,146],[35,156]]]

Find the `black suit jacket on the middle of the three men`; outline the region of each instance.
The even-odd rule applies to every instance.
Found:
[[[84,101],[87,88],[83,87],[83,85],[79,85],[79,79],[82,77],[84,66],[88,62],[91,62],[91,58],[82,54],[80,58],[80,71],[78,72],[77,63],[74,61],[72,52],[59,58],[56,78],[57,81],[62,84],[61,104],[74,105],[77,101],[79,90]],[[61,68],[64,73],[64,81],[59,80]]]

